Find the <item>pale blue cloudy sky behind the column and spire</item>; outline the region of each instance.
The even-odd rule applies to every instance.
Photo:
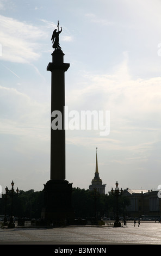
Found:
[[[161,184],[161,2],[0,0],[0,185],[50,179],[51,36],[59,20],[69,111],[109,111],[110,132],[66,130],[66,180],[106,193]]]

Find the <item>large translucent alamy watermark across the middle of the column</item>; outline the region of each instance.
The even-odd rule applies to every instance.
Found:
[[[100,136],[108,136],[110,132],[110,111],[76,110],[69,111],[64,107],[64,113],[55,110],[51,127],[53,130],[99,130]],[[64,120],[63,120],[64,117]]]

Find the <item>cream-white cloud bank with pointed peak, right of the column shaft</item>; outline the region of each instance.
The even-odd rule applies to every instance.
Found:
[[[133,115],[143,120],[151,114],[160,112],[161,78],[133,79],[129,75],[126,58],[111,75],[84,72],[84,77],[86,83],[80,84],[80,89],[74,89],[67,94],[68,101],[75,108],[84,108],[83,102],[88,101],[89,109],[95,105],[98,109],[103,107],[111,110],[120,117],[130,118]]]

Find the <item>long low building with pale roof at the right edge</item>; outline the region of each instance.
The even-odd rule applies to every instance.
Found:
[[[123,196],[127,196],[130,200],[130,205],[126,207],[127,216],[160,217],[161,200],[158,197],[158,191],[126,188]]]

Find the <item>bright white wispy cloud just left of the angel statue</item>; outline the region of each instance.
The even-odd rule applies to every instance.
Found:
[[[47,38],[47,32],[2,15],[0,23],[1,59],[17,63],[30,63],[39,59],[41,41]]]

